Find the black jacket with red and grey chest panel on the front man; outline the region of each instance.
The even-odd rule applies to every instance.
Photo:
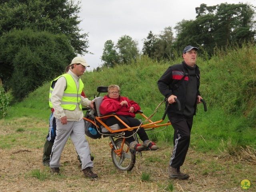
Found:
[[[185,76],[184,80],[182,78]],[[200,95],[199,86],[200,86],[200,71],[199,67],[196,66],[196,80],[197,80],[197,94],[196,96]],[[177,96],[177,99],[180,101],[182,111],[178,110],[178,104],[175,102],[174,104],[170,105],[169,112],[175,112],[178,114],[183,114],[186,102],[186,90],[188,85],[188,69],[186,68],[186,63],[183,61],[180,64],[175,64],[170,66],[166,72],[160,77],[157,82],[158,89],[166,98],[170,97],[171,95]],[[180,81],[181,84],[180,84]],[[168,102],[166,102],[168,103]],[[195,102],[195,110],[194,115],[196,114],[196,102]]]

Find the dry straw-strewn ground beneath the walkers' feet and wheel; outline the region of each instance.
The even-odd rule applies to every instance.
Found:
[[[12,140],[12,131],[0,127],[0,142]],[[157,151],[136,156],[132,171],[121,172],[112,163],[108,138],[88,138],[94,156],[94,172],[98,179],[83,178],[76,152],[68,140],[61,157],[61,176],[52,176],[50,168],[42,166],[44,133],[38,140],[30,136],[16,138],[10,150],[0,148],[0,192],[233,192],[242,191],[244,179],[256,183],[256,165],[201,154],[189,149],[182,170],[190,174],[188,180],[170,180],[167,165],[172,146],[158,143]],[[30,132],[30,134],[33,134]],[[18,145],[17,145],[18,143]],[[142,182],[142,173],[150,180]],[[38,178],[36,178],[38,176]],[[249,188],[248,191],[256,191]]]

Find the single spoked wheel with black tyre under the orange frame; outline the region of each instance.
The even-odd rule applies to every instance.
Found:
[[[119,138],[115,141],[117,149],[121,148],[122,142],[123,142],[123,138]],[[135,156],[135,154],[132,154],[130,152],[129,147],[130,147],[129,143],[127,141],[125,141],[123,150],[121,153],[121,157],[119,157],[115,153],[114,148],[112,148],[112,150],[111,150],[112,161],[113,161],[114,165],[116,166],[116,168],[118,168],[119,170],[130,171],[134,167],[136,156]]]

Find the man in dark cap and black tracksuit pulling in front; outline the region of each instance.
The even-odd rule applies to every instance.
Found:
[[[188,152],[196,105],[202,99],[199,92],[200,71],[196,65],[197,50],[193,46],[184,48],[184,61],[170,66],[157,82],[160,92],[168,98],[166,105],[170,104],[170,108],[167,115],[174,128],[174,149],[168,166],[168,174],[172,179],[189,178],[188,174],[180,172],[180,167]],[[181,111],[174,98],[180,101]]]

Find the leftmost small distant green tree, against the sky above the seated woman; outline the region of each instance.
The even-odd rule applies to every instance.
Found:
[[[119,56],[112,40],[107,40],[105,42],[101,60],[104,61],[103,66],[106,67],[113,68],[115,64],[119,63]]]

